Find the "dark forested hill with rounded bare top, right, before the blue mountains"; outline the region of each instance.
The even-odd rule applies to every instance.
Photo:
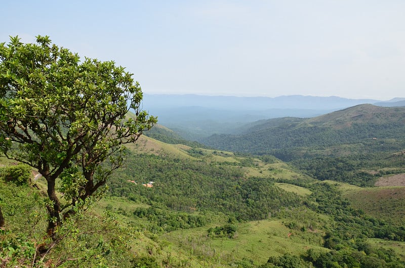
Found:
[[[367,170],[402,168],[405,107],[357,105],[313,118],[276,118],[239,128],[238,135],[213,135],[202,143],[221,150],[270,154],[318,180],[372,186]],[[397,168],[397,169],[395,169]],[[382,175],[381,174],[381,175]]]

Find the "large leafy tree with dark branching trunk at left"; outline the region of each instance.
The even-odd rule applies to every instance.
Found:
[[[36,42],[16,36],[0,44],[0,153],[45,177],[48,234],[54,237],[63,217],[83,207],[121,166],[124,145],[156,117],[141,110],[141,87],[125,68],[80,61],[49,36],[38,35]],[[134,118],[126,117],[130,109]]]

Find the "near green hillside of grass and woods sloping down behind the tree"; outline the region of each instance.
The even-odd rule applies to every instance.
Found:
[[[65,238],[39,266],[405,265],[397,244],[378,242],[405,240],[398,225],[402,215],[386,221],[351,198],[366,197],[369,190],[320,183],[271,156],[241,156],[149,137],[141,137],[127,156],[125,166],[111,176],[109,192],[66,220],[59,231]],[[33,182],[37,187],[6,183],[10,163],[2,163],[6,229],[0,257],[6,267],[29,266],[41,258],[35,248],[44,241],[46,199],[37,190],[43,181]],[[152,187],[143,185],[151,181]],[[402,206],[403,195],[395,197]]]

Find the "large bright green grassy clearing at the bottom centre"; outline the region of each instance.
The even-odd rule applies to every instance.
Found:
[[[320,233],[290,230],[281,219],[240,223],[232,239],[207,237],[208,228],[178,230],[163,237],[172,243],[174,250],[188,252],[193,259],[215,263],[214,267],[231,264],[235,256],[263,264],[270,256],[302,254],[309,248],[326,250],[321,247]]]

